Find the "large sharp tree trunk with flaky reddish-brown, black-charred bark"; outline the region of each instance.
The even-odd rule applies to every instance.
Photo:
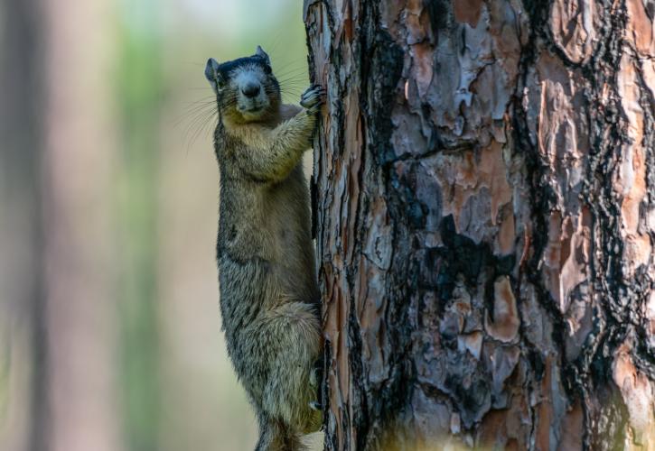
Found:
[[[655,3],[304,14],[326,448],[655,449]]]

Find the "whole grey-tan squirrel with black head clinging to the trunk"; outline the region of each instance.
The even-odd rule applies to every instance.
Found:
[[[228,354],[256,410],[256,451],[304,449],[321,428],[322,353],[309,193],[302,155],[311,148],[324,91],[283,105],[270,59],[219,64],[205,77],[216,95],[220,168],[220,313]]]

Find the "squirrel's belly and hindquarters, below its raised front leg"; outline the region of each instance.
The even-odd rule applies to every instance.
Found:
[[[217,254],[229,356],[258,411],[313,431],[320,305],[302,167],[273,186],[221,180]]]

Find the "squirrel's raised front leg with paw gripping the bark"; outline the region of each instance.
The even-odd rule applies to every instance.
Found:
[[[322,87],[309,87],[301,97],[304,110],[276,126],[272,143],[255,155],[244,156],[243,167],[256,179],[269,182],[284,180],[298,164],[303,153],[310,148],[316,126],[316,115],[323,104]]]

